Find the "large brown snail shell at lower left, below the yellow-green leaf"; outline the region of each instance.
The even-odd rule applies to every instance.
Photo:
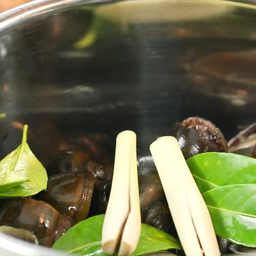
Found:
[[[48,247],[56,240],[60,217],[50,204],[32,198],[5,200],[0,209],[0,225],[26,229],[37,237],[39,244]],[[73,225],[72,220],[66,221],[66,227]],[[64,231],[59,228],[59,234]]]

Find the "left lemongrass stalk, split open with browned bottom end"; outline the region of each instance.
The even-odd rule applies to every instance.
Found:
[[[137,176],[136,134],[124,131],[116,137],[114,173],[102,227],[104,252],[132,254],[140,237],[140,201]]]

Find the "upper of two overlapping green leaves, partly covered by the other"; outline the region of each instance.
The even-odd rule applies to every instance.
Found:
[[[187,160],[201,193],[219,186],[256,183],[256,159],[233,153],[203,153]]]

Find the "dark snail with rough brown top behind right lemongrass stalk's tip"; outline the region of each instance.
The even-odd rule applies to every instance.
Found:
[[[228,146],[220,129],[201,117],[189,117],[174,125],[172,135],[188,159],[205,152],[227,152]]]

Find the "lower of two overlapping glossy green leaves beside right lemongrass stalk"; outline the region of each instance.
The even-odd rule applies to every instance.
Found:
[[[217,235],[256,247],[256,184],[237,184],[203,193]]]

